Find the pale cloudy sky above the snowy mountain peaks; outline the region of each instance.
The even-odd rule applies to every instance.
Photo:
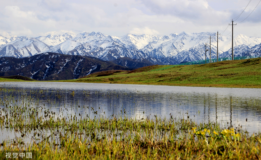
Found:
[[[168,35],[223,32],[250,0],[1,0],[0,34],[46,36],[66,32]],[[234,23],[244,20],[260,0],[251,0]],[[234,35],[261,37],[261,2],[234,28]],[[223,35],[229,34],[229,26]],[[231,35],[231,33],[230,33]]]

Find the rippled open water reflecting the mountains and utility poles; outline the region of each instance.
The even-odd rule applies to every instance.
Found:
[[[58,118],[172,116],[242,126],[250,133],[261,129],[261,89],[65,82],[0,82],[0,85],[26,89],[22,94],[32,96],[41,92],[46,96],[35,97],[39,98],[39,106],[49,107]],[[46,103],[46,97],[53,102]]]

